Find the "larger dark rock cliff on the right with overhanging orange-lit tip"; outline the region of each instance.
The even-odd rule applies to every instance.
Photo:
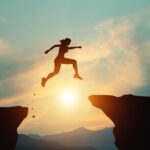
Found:
[[[113,132],[119,150],[150,149],[150,97],[92,95],[89,99],[115,124]]]

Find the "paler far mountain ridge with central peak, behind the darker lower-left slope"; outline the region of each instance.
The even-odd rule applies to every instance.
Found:
[[[84,127],[77,128],[68,132],[51,134],[46,136],[28,135],[32,138],[58,142],[66,146],[88,146],[96,150],[117,150],[114,144],[112,128],[104,128],[97,131],[89,130]],[[99,141],[101,139],[101,141]]]

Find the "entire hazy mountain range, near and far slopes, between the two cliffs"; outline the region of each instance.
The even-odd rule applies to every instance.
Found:
[[[117,150],[114,141],[112,128],[98,131],[78,128],[46,136],[21,134],[16,150]]]

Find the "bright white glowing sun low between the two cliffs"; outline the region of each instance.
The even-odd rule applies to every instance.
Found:
[[[60,94],[60,101],[66,107],[73,107],[77,102],[77,94],[73,90],[64,90]]]

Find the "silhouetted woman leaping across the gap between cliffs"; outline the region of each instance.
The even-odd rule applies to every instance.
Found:
[[[81,48],[81,46],[69,47],[69,44],[71,43],[71,39],[69,39],[69,38],[60,40],[60,43],[61,44],[53,45],[51,48],[49,48],[48,50],[45,51],[45,54],[47,54],[53,48],[59,47],[58,56],[55,58],[55,61],[54,61],[54,64],[55,64],[54,71],[49,73],[46,78],[44,78],[44,77],[42,78],[41,84],[43,87],[45,86],[48,79],[52,78],[53,76],[55,76],[56,74],[59,73],[61,64],[72,64],[74,71],[75,71],[75,74],[73,77],[80,79],[80,80],[83,80],[82,77],[80,77],[80,75],[78,73],[77,61],[74,59],[69,59],[69,58],[64,57],[65,53],[67,53],[68,50],[72,50],[75,48]]]

